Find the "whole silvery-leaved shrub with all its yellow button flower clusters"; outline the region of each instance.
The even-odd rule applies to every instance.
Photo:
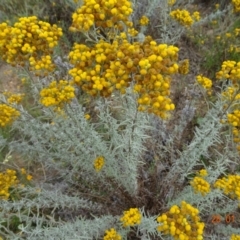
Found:
[[[202,75],[203,89],[185,83],[208,104],[186,140],[197,104],[174,103],[171,86],[187,79],[189,60],[172,44],[200,16],[164,2],[162,29],[180,31],[171,28],[175,38],[159,43],[144,35],[158,3],[147,1],[140,14],[143,3],[79,4],[69,30],[85,41],[65,58],[56,24],[37,16],[0,24],[2,60],[19,69],[28,90],[22,104],[23,95],[0,95],[0,147],[9,152],[0,173],[1,237],[238,238],[240,64],[223,62],[219,95]]]

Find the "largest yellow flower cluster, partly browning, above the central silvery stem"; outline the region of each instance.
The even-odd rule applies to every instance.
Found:
[[[157,44],[151,37],[143,43],[129,43],[124,34],[112,43],[100,40],[93,47],[75,44],[69,58],[69,71],[76,85],[92,96],[108,97],[114,90],[125,93],[134,76],[139,111],[162,118],[174,109],[169,98],[170,75],[178,73],[175,46]]]

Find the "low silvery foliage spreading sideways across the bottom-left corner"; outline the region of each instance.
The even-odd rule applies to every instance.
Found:
[[[79,197],[70,197],[56,190],[47,191],[45,189],[29,187],[23,188],[21,194],[24,194],[24,197],[20,200],[0,202],[0,235],[6,237],[14,236],[14,233],[11,232],[8,227],[5,227],[6,223],[11,223],[13,217],[19,218],[22,233],[24,233],[23,236],[25,236],[25,234],[26,236],[31,236],[34,229],[39,232],[44,226],[62,226],[65,222],[61,219],[56,221],[54,218],[55,215],[61,216],[58,213],[60,210],[66,211],[68,214],[69,212],[75,214],[75,216],[70,219],[66,219],[65,217],[65,220],[70,220],[71,222],[75,220],[78,215],[81,215],[83,211],[97,212],[101,208],[100,204],[94,204],[89,200]],[[35,227],[33,228],[33,226]],[[7,235],[6,232],[8,233]]]

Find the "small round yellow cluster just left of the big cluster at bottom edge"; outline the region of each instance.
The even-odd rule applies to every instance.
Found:
[[[120,218],[124,227],[140,224],[141,220],[142,214],[137,208],[130,208],[128,211],[124,211],[123,216]]]

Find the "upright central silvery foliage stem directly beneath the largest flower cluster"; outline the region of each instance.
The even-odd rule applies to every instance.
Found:
[[[116,105],[117,101],[119,103]],[[116,112],[116,116],[112,116],[109,107]],[[97,104],[97,109],[100,124],[105,129],[103,136],[110,140],[107,145],[115,158],[112,162],[113,171],[107,169],[107,175],[120,175],[118,181],[135,194],[138,170],[142,165],[141,154],[145,149],[143,140],[149,138],[145,133],[149,129],[147,115],[136,110],[136,101],[129,93],[124,98],[114,96],[112,100],[105,100],[104,104]],[[126,176],[129,178],[128,183]]]

